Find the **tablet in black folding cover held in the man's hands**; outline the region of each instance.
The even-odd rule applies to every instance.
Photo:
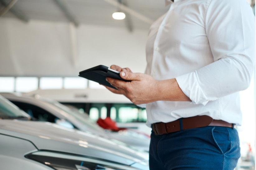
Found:
[[[116,78],[118,80],[123,80],[125,82],[130,82],[130,80],[125,80],[121,78],[120,72],[113,70],[111,68],[108,68],[107,66],[104,66],[104,65],[98,65],[96,67],[83,70],[79,72],[78,76],[87,78],[88,80],[92,80],[94,82],[103,84],[105,86],[108,86],[114,89],[116,88],[106,81],[107,77]]]

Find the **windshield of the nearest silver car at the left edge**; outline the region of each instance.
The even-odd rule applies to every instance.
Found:
[[[26,119],[30,116],[16,105],[0,95],[0,119]]]

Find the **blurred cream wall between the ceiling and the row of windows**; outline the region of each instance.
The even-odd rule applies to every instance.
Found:
[[[80,71],[99,64],[109,67],[116,64],[143,73],[147,34],[145,29],[131,33],[120,27],[75,28],[64,22],[23,23],[14,18],[0,18],[0,73],[77,76]]]

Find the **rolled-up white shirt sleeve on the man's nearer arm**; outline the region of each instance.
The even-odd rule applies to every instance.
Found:
[[[244,0],[212,0],[205,29],[214,62],[176,78],[194,104],[245,90],[255,64],[255,17]]]

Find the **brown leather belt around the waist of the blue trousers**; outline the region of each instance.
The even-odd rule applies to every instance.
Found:
[[[180,123],[182,125],[180,125]],[[186,129],[199,128],[204,126],[223,126],[235,128],[235,124],[228,123],[223,120],[215,120],[210,116],[194,116],[188,118],[178,119],[172,122],[164,123],[154,123],[152,129],[155,135],[164,135],[171,132],[177,132]],[[182,129],[181,129],[182,128]]]

